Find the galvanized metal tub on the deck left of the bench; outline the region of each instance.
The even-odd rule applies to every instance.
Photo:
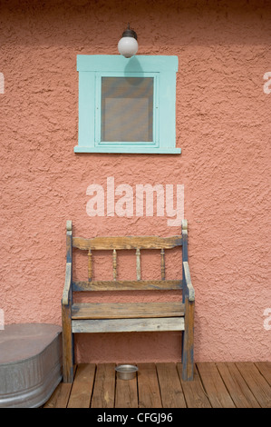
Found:
[[[48,323],[0,331],[0,408],[37,408],[62,380],[62,329]]]

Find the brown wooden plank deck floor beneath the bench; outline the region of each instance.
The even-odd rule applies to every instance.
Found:
[[[123,381],[114,363],[79,364],[44,408],[271,408],[271,362],[198,362],[193,382],[181,380],[180,363],[138,368]]]

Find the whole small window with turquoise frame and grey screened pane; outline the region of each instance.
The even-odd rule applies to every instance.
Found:
[[[176,56],[78,55],[75,153],[179,154]]]

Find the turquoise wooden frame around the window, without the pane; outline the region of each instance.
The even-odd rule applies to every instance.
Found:
[[[176,147],[177,56],[77,55],[79,125],[75,153],[180,154]],[[101,140],[102,77],[153,78],[152,142]]]

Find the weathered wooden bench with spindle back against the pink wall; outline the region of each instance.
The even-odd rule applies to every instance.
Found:
[[[193,380],[195,292],[188,263],[188,223],[182,221],[181,235],[173,237],[73,237],[67,221],[66,275],[62,299],[63,382],[73,382],[73,333],[121,333],[182,331],[182,379]],[[166,280],[165,250],[182,249],[182,279]],[[88,280],[73,282],[73,248],[88,251]],[[161,279],[141,280],[140,250],[159,249]],[[112,251],[112,281],[92,280],[92,252]],[[117,279],[117,251],[133,250],[136,256],[135,281]],[[73,303],[73,292],[82,291],[182,290],[182,301],[165,303]]]

